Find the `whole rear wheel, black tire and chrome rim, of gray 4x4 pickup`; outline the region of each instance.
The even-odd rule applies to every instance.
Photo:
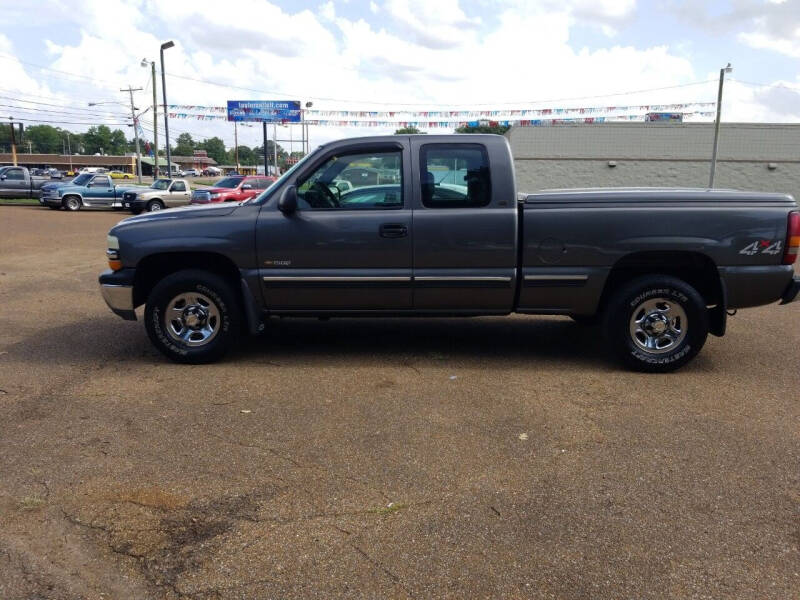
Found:
[[[708,337],[702,296],[669,275],[628,282],[611,296],[603,317],[606,340],[637,371],[674,371],[692,360]]]

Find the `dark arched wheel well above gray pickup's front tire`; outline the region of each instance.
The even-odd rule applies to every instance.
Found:
[[[147,301],[150,291],[167,275],[183,269],[202,269],[222,277],[241,302],[241,275],[231,259],[214,252],[165,252],[139,261],[133,281],[133,305]]]

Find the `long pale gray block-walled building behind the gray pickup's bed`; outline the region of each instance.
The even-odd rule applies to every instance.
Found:
[[[512,127],[517,189],[707,187],[713,123]],[[800,125],[723,123],[715,187],[800,198]]]

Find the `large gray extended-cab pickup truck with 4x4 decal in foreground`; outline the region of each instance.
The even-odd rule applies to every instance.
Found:
[[[100,286],[124,319],[144,304],[179,362],[219,359],[272,315],[516,312],[597,321],[625,364],[664,372],[728,311],[794,300],[798,246],[784,194],[518,194],[503,137],[388,136],[325,144],[248,202],[125,219]]]

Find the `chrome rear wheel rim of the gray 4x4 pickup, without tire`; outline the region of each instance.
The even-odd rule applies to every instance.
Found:
[[[641,350],[663,354],[683,341],[688,325],[686,312],[680,304],[667,298],[651,298],[633,311],[630,334]]]

